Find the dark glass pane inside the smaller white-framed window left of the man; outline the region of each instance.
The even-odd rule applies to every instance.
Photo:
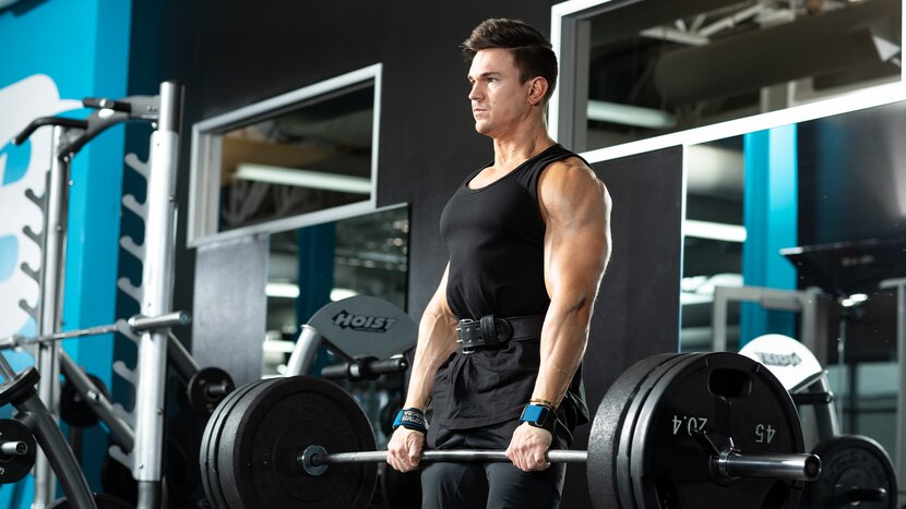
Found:
[[[371,199],[374,83],[220,135],[218,231]]]

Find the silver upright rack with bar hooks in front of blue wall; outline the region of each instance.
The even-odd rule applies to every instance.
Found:
[[[39,336],[32,341],[38,348],[36,355],[38,369],[35,373],[40,372],[43,374],[39,377],[40,381],[38,381],[38,395],[47,402],[51,411],[56,410],[59,404],[57,377],[62,365],[62,371],[68,375],[68,379],[74,383],[83,399],[92,403],[92,408],[110,427],[116,441],[116,445],[110,448],[110,453],[119,462],[127,465],[133,478],[138,481],[138,507],[140,508],[156,509],[163,505],[162,448],[164,444],[164,414],[162,409],[164,408],[167,361],[169,359],[176,366],[177,372],[183,377],[192,379],[195,375],[202,373],[193,363],[191,356],[188,356],[188,353],[184,352],[184,349],[168,349],[171,343],[170,326],[187,322],[184,314],[177,313],[175,320],[174,315],[170,314],[174,272],[172,239],[175,233],[174,194],[182,96],[183,90],[180,84],[164,82],[160,84],[159,95],[157,96],[131,96],[118,100],[87,98],[83,101],[83,105],[98,110],[87,119],[40,118],[33,121],[14,140],[14,143],[21,144],[36,129],[44,125],[55,126],[53,150],[56,157],[53,158],[49,175],[50,182],[43,204],[46,208],[46,240],[44,265],[40,270],[40,282],[43,283],[41,320],[38,329]],[[59,326],[58,306],[62,295],[58,281],[62,280],[62,245],[67,231],[65,187],[69,180],[69,163],[72,157],[94,136],[115,124],[129,120],[151,122],[155,126],[155,131],[151,135],[148,163],[138,162],[134,160],[136,159],[134,156],[130,156],[133,158],[131,162],[130,158],[127,158],[127,163],[130,163],[131,167],[145,177],[147,197],[144,204],[138,203],[132,196],[123,198],[123,205],[146,221],[143,245],[138,245],[131,239],[121,241],[123,249],[135,254],[143,262],[142,288],[132,287],[123,280],[118,282],[123,291],[139,301],[141,316],[134,317],[131,324],[112,324],[106,326],[106,329],[102,327],[75,334],[56,332]],[[29,197],[40,205],[37,198]],[[34,270],[33,272],[37,274]],[[155,326],[148,328],[136,327],[135,324],[141,325],[142,320],[146,320],[145,325],[148,322],[155,323]],[[127,367],[120,361],[117,361],[114,365],[114,371],[135,388],[135,405],[131,412],[127,412],[119,405],[110,405],[94,383],[56,346],[56,339],[64,338],[68,334],[78,337],[109,331],[120,332],[138,344],[139,361],[134,369]],[[12,346],[17,346],[17,341],[28,342],[23,338],[16,338],[12,340]],[[176,343],[176,341],[172,341],[172,344]],[[7,373],[10,377],[4,377],[7,379],[3,387],[10,388],[21,384],[20,380],[28,373],[31,372],[26,371],[19,375]],[[204,403],[208,408],[213,408],[213,404],[231,389],[231,381],[217,374],[213,380],[200,378],[204,380],[204,384],[200,385],[205,386],[201,389],[202,396],[210,397],[213,401]],[[35,380],[37,381],[37,378]],[[32,400],[26,398],[23,401]],[[46,425],[38,428],[38,433],[45,436],[51,435],[47,432]],[[38,438],[40,441],[40,436]],[[65,445],[65,450],[71,455],[68,445]],[[56,471],[58,469],[51,469],[51,465],[43,465],[41,460],[37,460],[35,469],[36,496],[33,507],[46,507],[47,501],[52,496],[55,482],[51,470]],[[59,470],[61,484],[67,490],[68,504],[79,508],[96,507],[94,498],[87,492],[84,475],[81,471],[78,468],[64,465],[60,466]],[[82,482],[71,481],[70,477],[81,477]]]

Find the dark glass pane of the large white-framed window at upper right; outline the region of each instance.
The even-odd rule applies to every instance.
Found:
[[[901,80],[902,0],[601,3],[564,38],[577,61],[561,122],[576,150]]]

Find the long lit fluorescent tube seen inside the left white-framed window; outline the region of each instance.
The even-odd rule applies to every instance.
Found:
[[[240,162],[237,165],[236,173],[233,178],[266,182],[269,184],[338,191],[341,193],[371,194],[371,179],[363,177],[349,177],[251,162]]]

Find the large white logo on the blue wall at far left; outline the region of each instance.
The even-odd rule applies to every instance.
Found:
[[[75,108],[76,100],[61,100],[49,76],[35,74],[0,88],[0,338],[34,334],[35,324],[19,302],[38,303],[38,283],[22,271],[22,264],[40,268],[40,247],[25,237],[31,227],[41,234],[44,214],[25,192],[44,196],[50,169],[50,128],[41,128],[21,146],[12,138],[38,117],[50,117]]]

